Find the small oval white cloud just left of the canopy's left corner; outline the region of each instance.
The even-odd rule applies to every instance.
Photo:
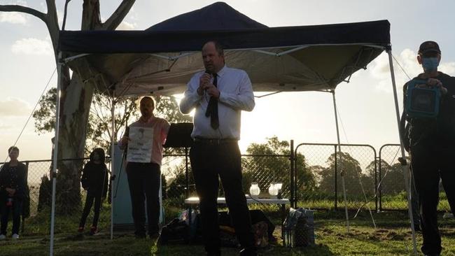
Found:
[[[25,55],[52,55],[52,45],[49,41],[37,38],[22,38],[11,46],[11,51],[15,54]]]

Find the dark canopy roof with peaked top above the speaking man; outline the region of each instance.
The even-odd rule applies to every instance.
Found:
[[[204,68],[200,49],[211,40],[225,46],[227,64],[245,69],[256,91],[326,90],[388,47],[389,30],[387,20],[270,28],[218,2],[145,31],[62,31],[59,50],[90,54],[69,65],[101,74],[116,95],[183,92]]]

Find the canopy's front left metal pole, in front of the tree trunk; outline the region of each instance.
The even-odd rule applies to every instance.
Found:
[[[55,102],[55,137],[54,137],[54,152],[52,155],[52,206],[50,208],[50,242],[49,255],[54,254],[54,226],[55,226],[55,189],[57,187],[57,157],[59,145],[59,124],[60,124],[60,89],[62,88],[62,52],[59,52],[57,59],[57,99]]]

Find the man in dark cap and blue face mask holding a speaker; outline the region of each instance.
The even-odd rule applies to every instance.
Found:
[[[421,213],[424,255],[440,255],[441,236],[437,227],[439,183],[442,180],[449,206],[455,210],[455,78],[437,70],[441,50],[434,41],[425,41],[419,47],[417,62],[423,73],[416,78],[426,81],[425,87],[440,90],[439,113],[435,118],[409,118],[409,153],[412,174]],[[409,82],[408,82],[409,83]],[[406,106],[407,86],[403,87]]]

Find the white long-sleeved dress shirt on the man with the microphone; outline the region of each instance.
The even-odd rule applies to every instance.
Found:
[[[217,87],[220,91],[218,98],[218,120],[220,127],[210,126],[210,116],[205,112],[209,105],[210,95],[207,92],[199,95],[200,77],[205,71],[195,73],[188,83],[183,99],[180,101],[180,111],[184,114],[196,109],[193,118],[194,129],[191,137],[200,138],[233,138],[240,139],[241,111],[252,111],[254,108],[253,87],[248,74],[241,69],[224,66],[217,73]],[[213,78],[212,78],[213,83]]]

